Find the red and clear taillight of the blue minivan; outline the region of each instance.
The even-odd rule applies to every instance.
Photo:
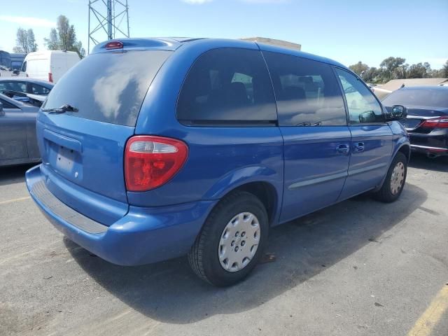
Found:
[[[147,191],[167,183],[186,162],[188,147],[182,141],[136,136],[127,141],[125,179],[128,191]]]

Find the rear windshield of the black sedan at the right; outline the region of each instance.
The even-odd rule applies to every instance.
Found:
[[[396,90],[383,100],[385,106],[433,106],[448,108],[448,90],[406,89]]]

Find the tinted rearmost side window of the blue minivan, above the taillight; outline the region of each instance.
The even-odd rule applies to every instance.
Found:
[[[275,125],[269,73],[258,50],[221,48],[191,67],[177,105],[185,125]]]

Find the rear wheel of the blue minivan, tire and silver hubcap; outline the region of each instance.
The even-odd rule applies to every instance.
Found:
[[[211,211],[188,254],[193,271],[215,286],[244,279],[262,255],[268,234],[262,202],[251,193],[235,192]]]

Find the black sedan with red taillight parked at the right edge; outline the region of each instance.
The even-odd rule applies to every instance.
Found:
[[[408,116],[400,122],[409,133],[412,151],[428,158],[448,155],[448,87],[402,87],[383,104],[389,111],[395,104],[407,108]]]

